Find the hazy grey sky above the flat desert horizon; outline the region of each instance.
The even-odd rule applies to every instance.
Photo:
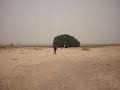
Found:
[[[0,43],[52,44],[60,34],[120,44],[120,0],[0,0]]]

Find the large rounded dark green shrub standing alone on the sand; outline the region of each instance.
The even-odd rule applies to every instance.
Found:
[[[68,34],[62,34],[60,36],[56,36],[53,40],[53,45],[56,44],[58,47],[79,47],[80,42],[75,39],[73,36]]]

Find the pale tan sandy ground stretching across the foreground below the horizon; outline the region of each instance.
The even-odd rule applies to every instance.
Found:
[[[2,48],[0,90],[120,90],[120,46]]]

